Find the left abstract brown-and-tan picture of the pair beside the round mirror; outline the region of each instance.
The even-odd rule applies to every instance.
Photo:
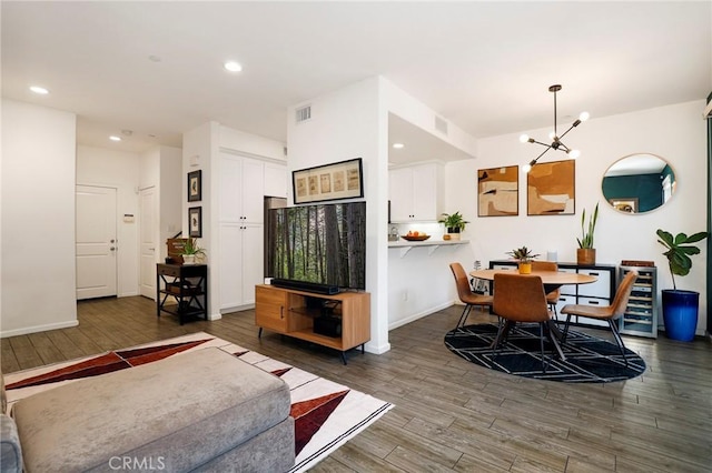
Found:
[[[477,170],[477,217],[520,214],[520,167]]]

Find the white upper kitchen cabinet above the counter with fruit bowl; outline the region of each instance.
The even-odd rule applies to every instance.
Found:
[[[390,221],[433,222],[442,213],[442,165],[436,163],[397,168],[388,172]]]

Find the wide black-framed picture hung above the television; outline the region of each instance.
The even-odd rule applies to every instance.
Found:
[[[294,203],[364,197],[360,158],[293,171],[291,179]]]

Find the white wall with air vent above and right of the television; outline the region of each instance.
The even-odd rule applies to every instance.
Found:
[[[370,292],[370,342],[389,350],[387,313],[387,110],[379,102],[380,78],[290,107],[287,113],[288,171],[362,158],[366,200],[366,290]],[[312,119],[295,123],[295,110],[312,105]],[[289,198],[291,204],[291,195]]]

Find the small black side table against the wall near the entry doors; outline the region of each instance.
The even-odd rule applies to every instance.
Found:
[[[171,296],[177,305],[166,306]],[[178,315],[182,325],[188,319],[201,316],[208,320],[208,265],[164,264],[156,265],[156,316],[160,312]]]

